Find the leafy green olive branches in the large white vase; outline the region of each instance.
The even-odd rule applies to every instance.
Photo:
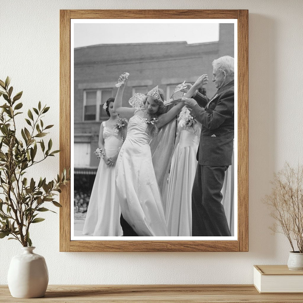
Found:
[[[43,124],[42,118],[49,107],[42,107],[40,101],[37,108],[28,109],[25,118],[28,127],[21,128],[21,136],[17,134],[15,117],[23,113],[18,111],[23,104],[17,102],[22,92],[12,97],[13,87],[9,85],[9,77],[5,82],[0,80],[0,97],[5,99],[0,106],[0,197],[3,198],[0,198],[0,238],[11,236],[8,239],[18,240],[26,247],[32,246],[30,225],[45,220],[37,215],[52,211],[44,206],[51,203],[62,207],[55,198],[61,192],[60,187],[70,180],[70,169],[68,173],[64,169],[49,182],[42,177],[39,181],[25,177],[28,168],[55,156],[59,150],[52,150],[52,139],[47,146],[42,139],[54,125]],[[37,155],[38,146],[41,157]]]

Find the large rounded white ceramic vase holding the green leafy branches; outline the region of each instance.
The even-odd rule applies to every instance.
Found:
[[[48,285],[45,259],[33,253],[35,247],[22,247],[23,254],[12,258],[8,268],[8,288],[14,298],[40,298]]]

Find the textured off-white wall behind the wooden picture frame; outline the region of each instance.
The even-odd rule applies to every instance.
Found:
[[[59,252],[58,216],[33,226],[36,253],[45,257],[50,284],[251,284],[254,264],[286,264],[289,245],[268,229],[262,203],[272,173],[285,161],[302,163],[301,0],[2,0],[0,78],[23,90],[25,108],[51,105],[45,123],[59,136],[59,9],[249,9],[249,252],[73,253]],[[57,149],[57,148],[56,148]],[[53,178],[58,157],[39,171]],[[37,171],[33,172],[39,177]],[[0,284],[16,241],[0,240]]]

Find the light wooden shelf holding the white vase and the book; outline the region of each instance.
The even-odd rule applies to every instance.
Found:
[[[253,285],[49,285],[45,297],[17,299],[0,285],[0,302],[303,302],[303,294],[260,294]]]

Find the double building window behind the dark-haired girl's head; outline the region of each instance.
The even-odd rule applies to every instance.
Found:
[[[86,90],[83,94],[83,121],[101,121],[107,117],[103,104],[113,96],[111,88]]]

